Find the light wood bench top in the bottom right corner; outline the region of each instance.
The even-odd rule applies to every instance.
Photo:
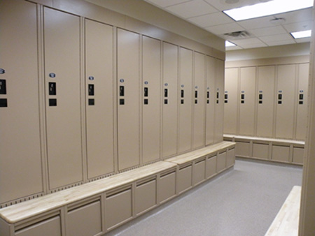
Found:
[[[294,186],[265,236],[297,236],[300,217],[301,187]]]

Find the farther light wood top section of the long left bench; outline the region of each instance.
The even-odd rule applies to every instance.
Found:
[[[174,156],[174,157],[169,158],[165,161],[169,161],[172,163],[182,165],[182,164],[187,163],[189,161],[194,161],[195,159],[200,158],[202,156],[215,154],[216,152],[221,151],[222,149],[227,149],[229,147],[235,147],[235,142],[225,142],[225,141],[219,142],[215,145],[203,147],[202,149],[197,149],[193,152],[181,154],[179,156]]]

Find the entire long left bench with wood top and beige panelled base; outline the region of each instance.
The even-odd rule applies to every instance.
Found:
[[[0,235],[103,235],[232,167],[234,147],[221,142],[5,207]]]

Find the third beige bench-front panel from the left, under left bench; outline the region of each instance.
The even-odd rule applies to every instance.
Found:
[[[111,230],[132,219],[132,187],[116,189],[106,193],[105,224]]]

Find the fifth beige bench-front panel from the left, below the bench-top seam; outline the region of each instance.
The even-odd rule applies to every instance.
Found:
[[[161,174],[158,180],[158,202],[165,202],[175,195],[176,170]]]

